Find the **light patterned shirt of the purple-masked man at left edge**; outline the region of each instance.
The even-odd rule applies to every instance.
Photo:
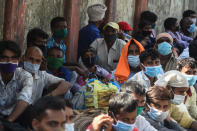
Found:
[[[0,114],[10,115],[18,100],[31,104],[33,78],[22,68],[17,68],[6,85],[0,74]]]

